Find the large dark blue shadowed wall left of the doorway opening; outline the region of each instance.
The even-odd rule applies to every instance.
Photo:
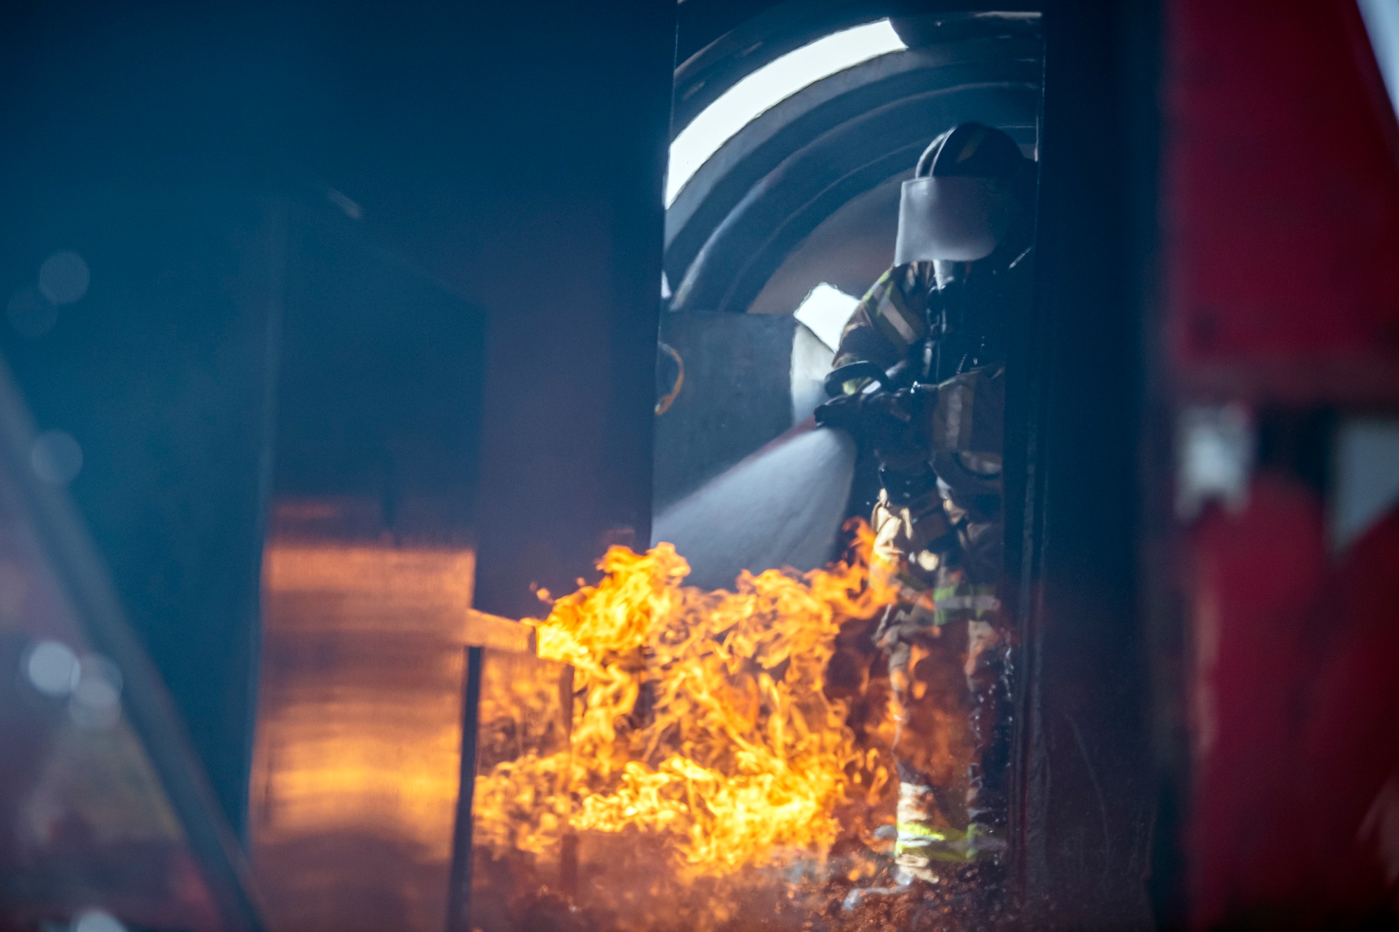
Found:
[[[41,428],[83,446],[70,488],[235,824],[271,476],[298,442],[288,469],[315,460],[274,431],[298,218],[340,211],[484,313],[484,355],[443,353],[424,313],[378,347],[403,383],[332,364],[292,382],[355,386],[323,392],[329,411],[372,375],[424,411],[397,424],[410,446],[480,462],[439,523],[478,540],[478,605],[518,614],[530,582],[567,589],[604,540],[648,536],[673,55],[665,0],[0,14],[3,297],[59,250],[91,271],[52,329],[0,325],[0,348]],[[432,386],[483,358],[463,451],[477,420]],[[305,469],[278,484],[316,491]],[[389,498],[395,476],[413,470],[390,470]]]

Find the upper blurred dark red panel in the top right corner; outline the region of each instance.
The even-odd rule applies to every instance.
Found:
[[[1353,0],[1168,7],[1168,341],[1212,395],[1399,390],[1399,150]]]

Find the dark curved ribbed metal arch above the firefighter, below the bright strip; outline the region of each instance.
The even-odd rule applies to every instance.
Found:
[[[672,311],[747,311],[823,221],[911,172],[935,127],[975,118],[1034,151],[1037,15],[925,14],[904,22],[914,48],[782,101],[681,189],[666,211]]]

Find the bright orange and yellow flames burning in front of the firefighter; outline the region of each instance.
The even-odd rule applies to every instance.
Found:
[[[824,689],[841,623],[895,598],[869,572],[869,528],[855,532],[851,560],[744,572],[734,592],[683,585],[672,544],[610,549],[602,582],[537,623],[540,656],[574,669],[571,747],[483,774],[477,840],[541,854],[567,833],[632,828],[691,879],[824,856],[838,807],[888,781]]]

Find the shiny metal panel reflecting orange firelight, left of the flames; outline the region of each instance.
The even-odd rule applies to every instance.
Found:
[[[474,554],[274,540],[252,855],[271,928],[442,928]]]

